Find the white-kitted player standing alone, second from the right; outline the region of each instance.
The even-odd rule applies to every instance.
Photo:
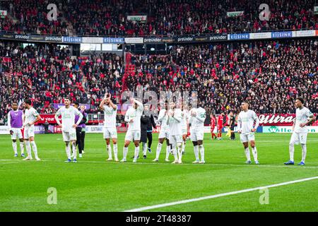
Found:
[[[237,117],[237,133],[240,133],[240,140],[245,148],[245,155],[247,161],[245,163],[251,164],[251,155],[249,153],[249,144],[252,147],[252,153],[254,156],[255,164],[259,164],[257,160],[257,148],[255,146],[255,136],[254,133],[257,131],[259,126],[259,117],[257,114],[249,109],[248,102],[242,102],[241,105],[242,112],[240,112]]]

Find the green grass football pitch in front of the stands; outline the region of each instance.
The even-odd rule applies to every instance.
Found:
[[[152,162],[158,135],[153,138],[146,160],[141,153],[136,163],[119,163],[106,161],[102,134],[88,133],[83,158],[66,163],[61,134],[35,136],[40,162],[13,157],[10,136],[0,136],[0,211],[318,211],[318,134],[308,134],[302,167],[300,145],[295,165],[283,165],[288,133],[256,134],[261,165],[245,165],[242,144],[225,134],[222,141],[205,134],[205,165],[192,164],[191,141],[182,165],[172,165],[172,155],[164,161],[165,145],[160,161]],[[119,160],[123,144],[119,133]],[[48,203],[49,188],[56,189],[57,204]]]

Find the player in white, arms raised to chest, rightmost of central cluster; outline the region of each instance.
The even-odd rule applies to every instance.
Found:
[[[204,121],[206,120],[206,110],[202,107],[192,108],[189,112],[190,118],[190,139],[194,145],[194,155],[196,160],[192,163],[204,164]],[[201,161],[199,159],[199,150],[201,154]]]

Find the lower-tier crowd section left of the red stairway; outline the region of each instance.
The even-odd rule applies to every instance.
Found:
[[[38,112],[54,113],[54,103],[71,96],[97,112],[106,91],[119,95],[122,58],[116,54],[78,57],[57,45],[22,47],[0,42],[0,103],[2,118],[12,100],[30,98]]]

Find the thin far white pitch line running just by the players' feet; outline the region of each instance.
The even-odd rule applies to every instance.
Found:
[[[18,162],[22,162],[22,160],[0,160],[0,161],[12,161],[15,163]],[[63,162],[64,160],[41,160],[40,162]],[[29,162],[29,161],[28,161]],[[35,162],[30,161],[30,162]],[[163,163],[163,162],[107,162],[107,161],[78,161],[77,164],[81,164],[81,163],[104,163],[104,164],[119,164],[119,165],[169,165],[169,163]],[[0,165],[4,164],[0,162]],[[171,163],[170,163],[171,164]],[[171,164],[172,165],[172,164]],[[182,165],[197,165],[199,167],[200,164],[192,164],[192,163],[182,163],[182,164],[176,164],[179,166]],[[211,166],[228,166],[228,167],[273,167],[273,168],[297,168],[297,169],[318,169],[318,167],[314,167],[314,166],[291,166],[291,165],[243,165],[243,164],[222,164],[222,163],[205,163],[204,165],[211,165]],[[203,165],[201,165],[203,166]]]

